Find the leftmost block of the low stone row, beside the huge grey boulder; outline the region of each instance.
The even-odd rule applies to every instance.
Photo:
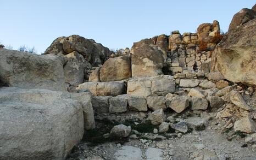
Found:
[[[93,96],[92,107],[97,114],[109,112],[109,98],[110,96]]]

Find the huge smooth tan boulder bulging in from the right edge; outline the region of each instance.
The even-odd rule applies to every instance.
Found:
[[[256,19],[231,29],[212,55],[212,72],[232,82],[256,86]]]

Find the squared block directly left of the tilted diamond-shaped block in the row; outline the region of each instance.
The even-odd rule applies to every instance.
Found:
[[[163,110],[166,109],[165,97],[163,96],[148,97],[147,104],[148,104],[148,107],[154,111],[158,109],[163,109]]]

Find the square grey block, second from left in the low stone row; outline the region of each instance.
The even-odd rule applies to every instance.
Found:
[[[127,99],[121,97],[110,97],[109,98],[109,112],[120,113],[126,112],[127,110]]]

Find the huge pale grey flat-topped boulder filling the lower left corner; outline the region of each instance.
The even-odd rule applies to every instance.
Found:
[[[77,99],[81,96],[73,95]],[[42,89],[0,88],[1,159],[65,159],[84,134],[86,106],[74,100],[75,96]]]

